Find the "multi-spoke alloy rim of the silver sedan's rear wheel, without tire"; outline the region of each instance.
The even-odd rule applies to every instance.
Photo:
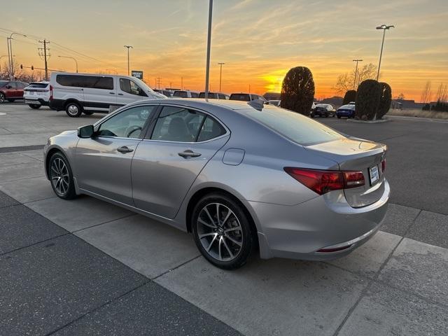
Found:
[[[197,218],[197,234],[204,251],[219,261],[237,258],[243,231],[235,213],[221,203],[209,203]]]

